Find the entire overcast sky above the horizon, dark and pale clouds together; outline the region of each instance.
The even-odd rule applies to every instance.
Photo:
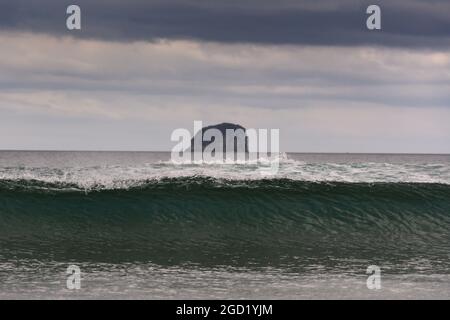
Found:
[[[194,120],[450,153],[450,1],[0,0],[0,149],[170,150]]]

